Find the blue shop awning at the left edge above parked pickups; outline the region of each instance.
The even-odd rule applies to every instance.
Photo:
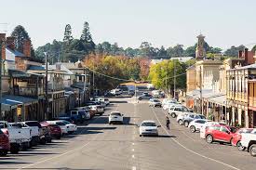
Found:
[[[17,108],[18,105],[29,105],[37,102],[37,98],[4,95],[1,99],[2,111],[11,111]]]

